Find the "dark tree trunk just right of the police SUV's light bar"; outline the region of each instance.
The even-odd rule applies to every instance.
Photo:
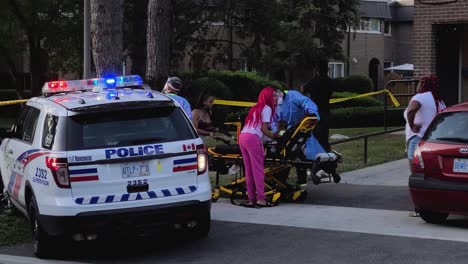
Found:
[[[169,75],[171,1],[149,0],[146,35],[146,80],[161,87]]]

